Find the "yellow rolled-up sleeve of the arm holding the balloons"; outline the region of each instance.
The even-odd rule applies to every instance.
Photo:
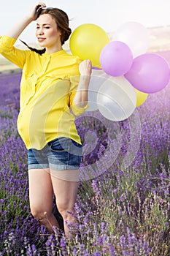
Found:
[[[70,106],[72,108],[72,112],[74,113],[75,116],[80,116],[82,115],[82,113],[85,112],[85,110],[88,108],[88,104],[85,105],[85,107],[78,107],[77,105],[74,104],[73,99],[74,96],[77,92],[77,87],[78,84],[80,82],[80,75],[72,75],[72,77],[70,77]]]

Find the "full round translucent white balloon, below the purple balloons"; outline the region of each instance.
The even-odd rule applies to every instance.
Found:
[[[123,76],[107,79],[98,90],[98,110],[107,119],[123,121],[136,108],[136,92]]]

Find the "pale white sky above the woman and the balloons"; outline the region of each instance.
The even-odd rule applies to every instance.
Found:
[[[38,1],[0,0],[0,35],[12,29]],[[170,0],[46,0],[47,7],[58,7],[69,16],[72,31],[84,23],[100,26],[112,33],[126,22],[145,27],[170,26]],[[20,35],[25,42],[36,42],[36,22]]]

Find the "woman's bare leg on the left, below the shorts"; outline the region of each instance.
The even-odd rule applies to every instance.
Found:
[[[29,200],[31,214],[39,219],[50,233],[53,233],[53,226],[59,227],[59,225],[52,214],[53,185],[49,172],[49,169],[28,170]]]

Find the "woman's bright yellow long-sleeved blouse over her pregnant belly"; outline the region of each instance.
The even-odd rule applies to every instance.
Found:
[[[81,143],[74,124],[85,108],[73,104],[80,80],[77,56],[60,50],[42,56],[14,47],[16,39],[0,37],[0,53],[23,69],[20,82],[18,132],[26,148],[42,149],[58,137]]]

